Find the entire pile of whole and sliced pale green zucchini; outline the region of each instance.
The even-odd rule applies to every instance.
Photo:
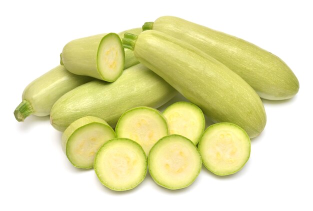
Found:
[[[178,17],[68,42],[60,65],[24,89],[16,120],[50,115],[62,148],[103,185],[128,190],[145,177],[190,185],[202,163],[216,175],[240,170],[250,138],[265,127],[260,99],[293,97],[299,82],[277,56]],[[175,94],[189,102],[160,107]],[[205,129],[204,114],[213,122]],[[115,128],[115,129],[113,129]]]

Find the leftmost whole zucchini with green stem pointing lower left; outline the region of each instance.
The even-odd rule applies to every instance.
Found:
[[[93,78],[72,74],[64,66],[58,65],[26,86],[14,116],[17,121],[23,121],[30,114],[49,115],[52,105],[60,96],[91,80]]]

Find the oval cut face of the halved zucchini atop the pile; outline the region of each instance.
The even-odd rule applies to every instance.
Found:
[[[115,81],[124,69],[124,49],[116,33],[106,34],[97,53],[97,70],[105,81]]]

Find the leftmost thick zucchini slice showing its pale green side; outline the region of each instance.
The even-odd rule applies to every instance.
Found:
[[[115,132],[106,121],[94,116],[84,116],[65,129],[62,148],[73,166],[92,168],[97,150],[114,137]]]

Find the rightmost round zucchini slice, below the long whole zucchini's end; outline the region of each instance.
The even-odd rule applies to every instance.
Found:
[[[250,156],[251,141],[238,125],[228,122],[206,128],[198,144],[204,166],[216,175],[240,170]]]

